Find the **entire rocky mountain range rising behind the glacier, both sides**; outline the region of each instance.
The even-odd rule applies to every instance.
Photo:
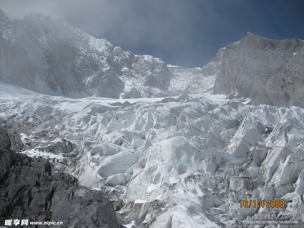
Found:
[[[214,84],[214,93],[237,92],[254,105],[304,107],[303,40],[270,40],[248,32],[202,69],[186,69],[125,52],[39,13],[11,22],[0,9],[0,21],[0,80],[34,92],[165,97],[208,92]]]

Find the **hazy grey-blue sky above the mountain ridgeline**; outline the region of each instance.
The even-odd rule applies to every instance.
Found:
[[[125,51],[191,68],[248,31],[304,40],[302,0],[0,0],[0,8],[11,20],[41,12]]]

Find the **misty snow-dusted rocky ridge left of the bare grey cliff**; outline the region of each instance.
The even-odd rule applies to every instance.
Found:
[[[171,71],[159,58],[125,52],[39,13],[11,22],[0,10],[0,22],[0,80],[34,92],[140,98],[213,88],[214,77],[200,68]]]

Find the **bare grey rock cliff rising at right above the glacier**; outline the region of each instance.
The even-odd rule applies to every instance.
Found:
[[[303,63],[303,40],[270,40],[248,32],[240,41],[220,49],[204,72],[217,72],[216,94],[236,91],[254,105],[303,108]]]

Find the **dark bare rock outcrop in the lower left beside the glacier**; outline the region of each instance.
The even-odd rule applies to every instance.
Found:
[[[29,219],[63,222],[60,227],[121,227],[102,193],[78,185],[70,174],[52,174],[48,160],[17,154],[10,147],[8,134],[0,128],[0,224]]]

